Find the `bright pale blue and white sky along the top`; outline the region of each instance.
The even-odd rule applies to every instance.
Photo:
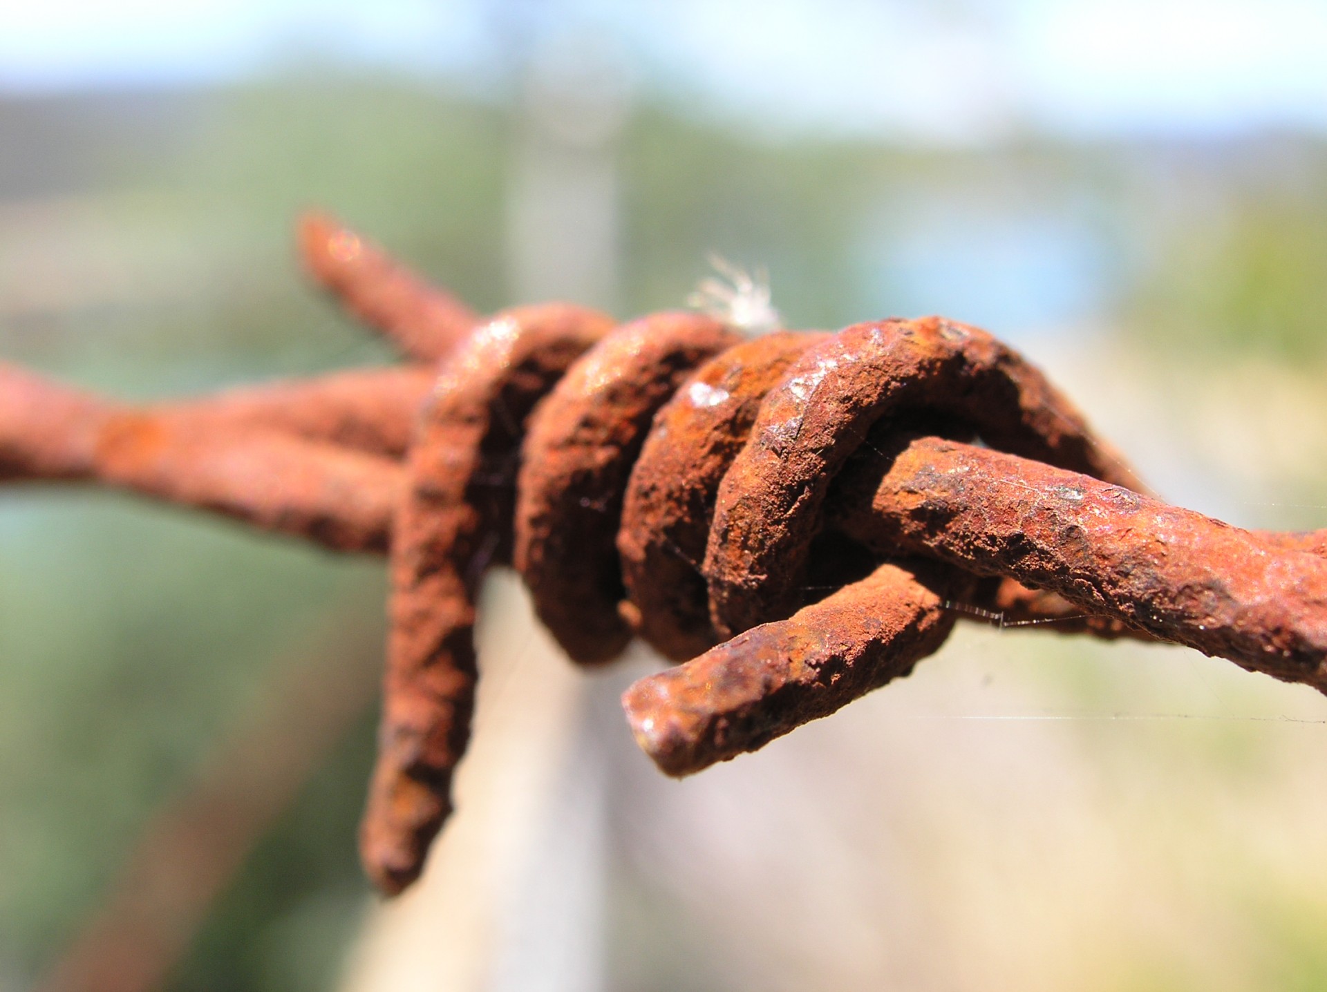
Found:
[[[642,85],[774,131],[1327,131],[1327,0],[0,0],[0,88],[214,81],[308,60],[483,80],[512,11],[518,25],[520,12],[594,25]]]

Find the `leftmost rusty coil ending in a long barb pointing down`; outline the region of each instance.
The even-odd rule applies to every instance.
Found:
[[[423,411],[391,542],[382,729],[360,838],[384,891],[418,877],[451,812],[451,772],[474,708],[475,594],[484,569],[511,554],[525,422],[612,326],[556,304],[499,314],[443,362]]]

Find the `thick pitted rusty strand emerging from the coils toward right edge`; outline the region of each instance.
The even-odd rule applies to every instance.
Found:
[[[999,451],[918,438],[892,459],[872,454],[888,471],[869,501],[845,487],[837,521],[868,546],[1011,576],[1158,639],[1327,691],[1327,558]]]

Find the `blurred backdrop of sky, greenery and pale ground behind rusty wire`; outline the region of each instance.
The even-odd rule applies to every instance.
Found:
[[[131,398],[390,361],[326,208],[482,310],[989,328],[1173,501],[1327,527],[1327,5],[0,0],[0,357]],[[965,626],[685,782],[486,593],[421,890],[356,863],[382,562],[0,491],[0,989],[1327,988],[1327,704]]]

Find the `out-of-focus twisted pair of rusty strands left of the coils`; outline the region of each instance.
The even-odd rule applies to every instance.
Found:
[[[384,385],[399,395],[377,402]],[[0,365],[0,480],[97,480],[336,550],[381,553],[401,464],[337,440],[399,436],[414,418],[411,390],[418,395],[414,377],[373,373],[134,408]],[[300,402],[263,415],[291,398]]]

